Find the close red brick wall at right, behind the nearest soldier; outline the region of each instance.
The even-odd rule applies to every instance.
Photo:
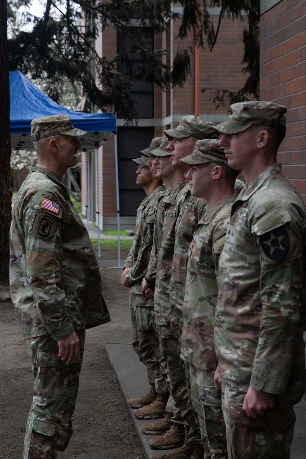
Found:
[[[260,99],[287,107],[278,160],[306,203],[306,0],[283,0],[261,16]]]

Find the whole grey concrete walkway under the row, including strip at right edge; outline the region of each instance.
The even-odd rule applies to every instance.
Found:
[[[109,342],[105,344],[105,347],[127,403],[129,398],[139,397],[147,393],[149,385],[145,366],[139,362],[130,340]],[[304,398],[306,400],[305,396]],[[154,436],[145,435],[141,431],[141,426],[146,422],[150,422],[150,420],[144,421],[135,418],[133,409],[129,409],[147,459],[152,459],[155,455],[168,454],[175,451],[172,449],[151,449],[149,441]],[[291,445],[291,459],[306,459],[306,401],[302,400],[295,405],[295,414],[295,436]],[[155,420],[152,422],[155,422]]]

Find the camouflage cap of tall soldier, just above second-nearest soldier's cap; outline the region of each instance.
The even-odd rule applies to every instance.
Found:
[[[219,134],[213,129],[215,123],[195,115],[183,116],[175,129],[164,131],[168,139],[181,139],[193,135],[197,139],[217,139]]]

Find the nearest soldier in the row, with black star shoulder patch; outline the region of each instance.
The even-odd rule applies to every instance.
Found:
[[[285,112],[273,102],[240,102],[215,128],[229,166],[247,182],[232,207],[216,308],[215,382],[230,459],[288,459],[293,405],[306,389],[306,209],[276,163]]]

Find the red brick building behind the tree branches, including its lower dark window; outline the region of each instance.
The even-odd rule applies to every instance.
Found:
[[[173,7],[174,11],[182,15],[183,9]],[[212,8],[211,13],[217,28],[220,8]],[[167,32],[153,36],[150,29],[144,28],[147,39],[151,39],[155,48],[169,48],[171,63],[178,49],[178,28],[180,20],[170,21]],[[206,47],[199,51],[199,90],[195,94],[195,53],[191,54],[191,75],[188,77],[184,88],[169,88],[162,91],[153,85],[136,83],[133,88],[133,98],[139,101],[138,123],[134,127],[124,126],[125,120],[117,118],[118,133],[118,168],[119,168],[119,196],[121,228],[134,229],[136,209],[143,199],[144,191],[137,185],[136,167],[132,158],[140,156],[139,151],[147,148],[150,140],[163,134],[164,129],[176,127],[184,115],[195,114],[195,104],[198,100],[199,113],[206,119],[220,123],[228,119],[229,106],[219,107],[211,99],[211,88],[238,90],[243,87],[246,76],[241,73],[241,61],[244,48],[242,42],[243,22],[233,21],[227,17],[222,20],[222,27],[217,43],[212,52]],[[187,41],[185,43],[187,45]],[[192,36],[188,45],[195,49]],[[96,40],[96,50],[101,55],[114,56],[120,52],[120,38],[117,30],[106,27],[103,34]],[[206,92],[201,92],[206,89]],[[95,154],[88,152],[89,170],[89,218],[95,220],[96,184],[95,184]],[[82,208],[85,213],[85,176],[84,157],[82,163]],[[115,183],[115,157],[114,137],[111,137],[99,149],[99,174],[100,174],[100,227],[101,229],[117,228],[116,212],[116,183]]]

